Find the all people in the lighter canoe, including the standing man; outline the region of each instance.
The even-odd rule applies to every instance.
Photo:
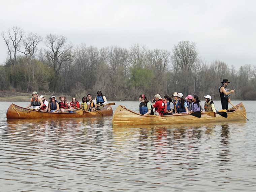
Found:
[[[228,102],[230,102],[230,93],[233,93],[235,90],[229,91],[227,86],[230,82],[228,79],[223,79],[221,82],[222,85],[219,87],[219,94],[221,98],[222,109],[228,109]],[[216,113],[215,105],[210,95],[204,96],[204,104],[199,100],[197,95],[188,95],[183,97],[182,93],[174,92],[171,97],[165,95],[162,98],[159,94],[156,94],[154,99],[151,101],[153,105],[148,101],[147,97],[142,94],[139,96],[139,113],[140,115],[179,115],[189,111],[213,111]],[[153,109],[155,108],[155,113]]]

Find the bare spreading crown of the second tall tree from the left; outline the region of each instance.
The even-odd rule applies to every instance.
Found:
[[[19,49],[20,53],[23,53],[27,60],[29,60],[36,52],[36,46],[42,40],[41,36],[37,33],[29,33],[22,40],[23,50]]]

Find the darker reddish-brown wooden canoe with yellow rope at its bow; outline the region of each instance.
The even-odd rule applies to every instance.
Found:
[[[113,109],[110,105],[105,105],[100,112],[85,112],[81,115],[78,113],[49,113],[33,109],[27,109],[15,104],[11,104],[6,112],[7,119],[50,119],[50,118],[84,118],[84,117],[105,117],[112,116]],[[102,115],[101,115],[102,114]]]

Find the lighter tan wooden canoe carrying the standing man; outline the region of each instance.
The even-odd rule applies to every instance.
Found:
[[[243,103],[238,103],[236,108],[246,116],[246,110]],[[113,126],[126,126],[126,125],[159,125],[159,124],[187,124],[187,123],[208,123],[208,122],[227,122],[227,121],[240,121],[245,118],[234,108],[227,110],[228,117],[224,118],[219,114],[202,113],[201,118],[194,117],[188,114],[182,115],[169,115],[169,116],[143,116],[127,109],[125,106],[119,105],[113,115]]]

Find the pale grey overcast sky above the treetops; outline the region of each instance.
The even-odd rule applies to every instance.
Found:
[[[1,1],[0,31],[64,35],[74,45],[98,48],[138,43],[171,51],[194,41],[206,62],[221,60],[238,68],[256,65],[256,1]],[[0,64],[7,58],[1,37]]]

